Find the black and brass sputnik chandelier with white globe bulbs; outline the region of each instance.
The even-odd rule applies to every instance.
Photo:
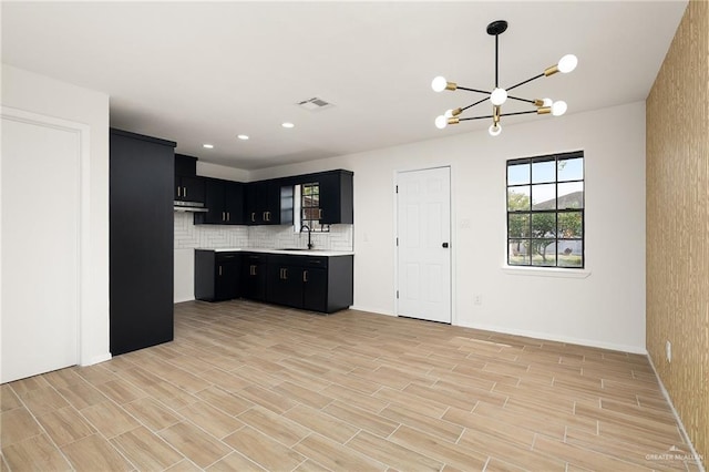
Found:
[[[451,91],[464,90],[466,92],[475,92],[475,93],[481,93],[486,95],[484,99],[479,100],[477,102],[471,103],[467,106],[458,107],[455,110],[449,110],[443,115],[436,117],[435,126],[438,129],[442,130],[449,124],[459,124],[461,121],[492,119],[492,125],[490,125],[490,129],[487,131],[490,132],[491,135],[496,136],[502,132],[502,125],[500,124],[500,119],[502,116],[525,115],[531,113],[536,113],[538,115],[552,114],[554,116],[561,116],[564,113],[566,113],[566,107],[567,107],[566,102],[562,100],[554,102],[551,99],[535,99],[535,100],[522,99],[520,96],[510,95],[510,92],[521,85],[524,85],[526,83],[530,83],[543,76],[554,75],[557,72],[566,74],[573,71],[574,69],[576,69],[578,59],[576,59],[574,54],[566,54],[558,61],[557,64],[546,68],[544,72],[542,72],[541,74],[534,75],[533,78],[524,80],[512,86],[508,86],[507,89],[502,89],[499,83],[499,73],[497,73],[497,69],[499,69],[497,68],[497,51],[499,51],[497,38],[500,37],[500,34],[504,33],[506,30],[507,30],[507,22],[504,20],[493,21],[492,23],[487,24],[487,34],[495,37],[495,88],[493,89],[492,92],[486,90],[477,90],[477,89],[469,89],[465,86],[459,86],[455,82],[449,82],[445,80],[445,78],[442,78],[440,75],[433,79],[433,81],[431,82],[431,88],[433,89],[434,92],[443,92],[444,90],[451,90]],[[460,116],[461,113],[463,113],[465,110],[471,109],[475,105],[479,105],[487,100],[490,100],[490,102],[492,103],[491,115],[481,115],[481,116],[471,116],[471,117]],[[524,111],[524,112],[514,112],[514,113],[502,113],[502,105],[507,100],[515,100],[517,102],[528,103],[532,106],[534,106],[534,110]]]

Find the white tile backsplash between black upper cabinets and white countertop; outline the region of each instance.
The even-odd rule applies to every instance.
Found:
[[[175,212],[175,249],[219,247],[306,247],[308,234],[292,226],[195,225],[192,213]],[[353,250],[352,225],[331,225],[329,233],[312,233],[316,249]]]

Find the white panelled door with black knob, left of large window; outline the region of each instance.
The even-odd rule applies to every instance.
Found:
[[[397,176],[397,315],[451,322],[451,170]]]

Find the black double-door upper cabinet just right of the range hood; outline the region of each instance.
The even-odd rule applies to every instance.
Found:
[[[195,215],[196,225],[243,225],[244,184],[204,178],[207,212]]]

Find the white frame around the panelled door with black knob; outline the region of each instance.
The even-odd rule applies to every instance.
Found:
[[[399,298],[397,297],[397,290],[399,288],[399,248],[397,246],[397,237],[398,237],[398,225],[399,225],[399,205],[398,205],[398,199],[397,199],[397,185],[399,185],[399,174],[401,173],[405,173],[405,172],[415,172],[415,171],[429,171],[432,168],[443,168],[443,167],[448,167],[450,171],[450,185],[451,185],[451,197],[450,197],[450,206],[451,206],[451,237],[450,237],[450,254],[451,254],[451,286],[450,286],[450,296],[451,296],[451,326],[456,326],[458,325],[458,310],[455,309],[456,304],[455,304],[455,298],[456,298],[456,290],[455,290],[455,274],[456,274],[456,253],[458,253],[458,233],[456,233],[456,227],[455,227],[455,198],[453,198],[453,196],[455,195],[455,186],[454,186],[454,178],[453,178],[453,171],[454,171],[454,166],[453,164],[441,164],[441,165],[431,165],[428,167],[403,167],[403,168],[398,168],[394,170],[393,175],[392,175],[392,205],[393,205],[393,218],[392,218],[392,234],[394,235],[394,237],[392,238],[392,253],[393,253],[393,265],[394,265],[394,284],[393,284],[393,290],[392,290],[392,298],[394,300],[394,316],[399,316]]]

